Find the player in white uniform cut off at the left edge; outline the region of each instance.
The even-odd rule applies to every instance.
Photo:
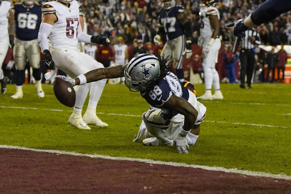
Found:
[[[10,3],[8,1],[0,0],[0,83],[1,83],[1,94],[5,94],[6,85],[8,83],[8,77],[4,76],[2,70],[2,63],[5,59],[8,47],[9,47],[9,37],[8,37],[8,18],[7,14],[10,8]],[[14,26],[13,26],[14,27]]]

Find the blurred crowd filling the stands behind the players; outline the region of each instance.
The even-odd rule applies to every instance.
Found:
[[[221,0],[217,3],[220,12],[220,38],[222,40],[221,52],[217,68],[220,78],[226,77],[226,69],[222,55],[224,44],[232,44],[235,36],[232,28],[226,28],[225,24],[243,18],[252,12],[264,0]],[[45,3],[46,1],[43,1]],[[118,43],[118,37],[122,36],[124,42],[129,45],[129,59],[136,53],[151,54],[162,49],[153,43],[153,38],[158,31],[158,15],[162,6],[161,0],[79,0],[80,9],[84,13],[89,35],[109,37],[111,45]],[[201,48],[196,43],[199,38],[199,0],[176,0],[177,5],[183,5],[191,22],[192,51],[190,59],[185,59],[183,66],[189,69],[192,66],[195,72],[202,72]],[[291,14],[282,14],[272,22],[256,27],[262,45],[291,44]],[[166,42],[166,37],[162,37]],[[98,59],[97,59],[98,60]],[[239,68],[239,67],[238,67]],[[236,68],[237,69],[237,68]]]

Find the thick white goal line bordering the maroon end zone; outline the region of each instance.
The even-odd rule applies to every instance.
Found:
[[[132,162],[145,162],[150,164],[161,164],[161,165],[168,165],[168,166],[179,166],[179,167],[189,167],[189,168],[199,168],[204,170],[211,170],[211,171],[222,171],[227,173],[236,173],[236,174],[243,174],[248,176],[259,176],[259,177],[268,177],[274,179],[285,179],[291,180],[291,176],[287,176],[285,174],[271,174],[266,172],[258,172],[258,171],[250,171],[250,170],[239,170],[239,169],[226,169],[223,167],[216,167],[216,166],[202,166],[202,165],[195,165],[195,164],[186,164],[186,163],[178,163],[178,162],[164,162],[159,160],[152,160],[152,159],[140,159],[140,158],[127,158],[127,157],[111,157],[105,155],[98,155],[98,154],[81,154],[76,152],[65,152],[60,150],[51,150],[51,149],[34,149],[34,148],[26,148],[26,147],[19,147],[19,146],[7,146],[7,145],[0,145],[0,148],[5,149],[21,149],[21,150],[28,150],[34,152],[48,152],[48,153],[55,153],[55,154],[66,154],[72,156],[86,156],[90,158],[101,158],[101,159],[110,159],[110,160],[126,160]]]

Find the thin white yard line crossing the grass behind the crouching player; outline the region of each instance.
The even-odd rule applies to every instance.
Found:
[[[0,108],[33,109],[33,110],[48,110],[48,111],[65,111],[65,112],[72,112],[71,110],[38,109],[38,108],[31,108],[31,107],[16,107],[16,106],[0,106]],[[104,112],[96,112],[96,114],[141,117],[141,115],[125,115],[125,114],[104,113]],[[289,114],[288,114],[288,115],[289,115]],[[291,115],[291,114],[290,114],[290,115]],[[253,126],[261,126],[261,127],[291,128],[291,127],[287,127],[287,126],[261,125],[261,124],[240,123],[240,122],[206,121],[206,120],[204,120],[204,121],[205,121],[205,122],[226,123],[226,124],[233,124],[233,125],[253,125]]]

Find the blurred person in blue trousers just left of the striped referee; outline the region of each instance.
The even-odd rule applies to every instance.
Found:
[[[232,52],[232,45],[224,46],[224,53],[222,59],[225,62],[226,75],[229,79],[229,83],[238,83],[236,82],[236,61],[239,59],[239,55]]]

